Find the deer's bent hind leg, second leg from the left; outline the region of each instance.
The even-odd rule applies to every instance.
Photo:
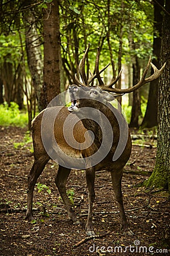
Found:
[[[57,176],[55,179],[58,191],[61,195],[61,198],[63,200],[63,203],[65,205],[65,208],[67,210],[67,213],[69,215],[69,218],[73,221],[73,224],[79,225],[80,221],[76,218],[75,213],[71,207],[70,200],[66,193],[66,181],[70,174],[70,169],[67,169],[65,167],[59,166]]]

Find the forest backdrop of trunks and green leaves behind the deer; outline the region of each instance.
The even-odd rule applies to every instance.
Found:
[[[74,75],[88,43],[87,73],[95,69],[99,46],[101,67],[111,63],[104,73],[106,83],[123,67],[117,86],[132,86],[150,55],[159,67],[163,0],[1,2],[1,103],[15,101],[22,109],[25,94],[29,112],[34,104],[44,109],[76,83]],[[139,126],[141,102],[147,102],[148,90],[145,86],[129,96],[131,127]],[[157,125],[158,81],[151,90],[143,127]]]

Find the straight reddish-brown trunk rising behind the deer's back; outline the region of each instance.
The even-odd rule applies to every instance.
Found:
[[[60,93],[59,76],[59,10],[58,0],[46,3],[44,9],[44,84],[41,91],[42,108]]]

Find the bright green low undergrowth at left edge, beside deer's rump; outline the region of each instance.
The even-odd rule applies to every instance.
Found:
[[[15,102],[11,102],[10,107],[7,102],[0,105],[0,125],[3,126],[19,126],[25,127],[28,123],[28,115],[26,112],[19,110],[19,106]]]

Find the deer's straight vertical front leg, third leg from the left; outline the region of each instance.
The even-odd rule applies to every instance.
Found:
[[[92,205],[95,200],[95,170],[90,168],[86,170],[86,181],[88,188],[88,218],[86,223],[86,235],[95,236],[94,228],[92,226]]]

